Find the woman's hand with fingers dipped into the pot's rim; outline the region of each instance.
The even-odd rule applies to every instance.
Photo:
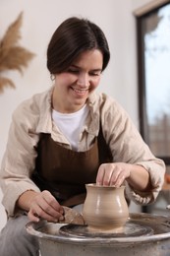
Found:
[[[102,163],[98,168],[96,184],[120,187],[130,177],[132,164],[125,162]]]

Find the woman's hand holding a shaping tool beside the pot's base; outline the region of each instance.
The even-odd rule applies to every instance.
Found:
[[[64,220],[63,207],[55,197],[47,191],[26,191],[18,201],[18,206],[28,210],[28,219],[31,222],[39,222],[40,219],[57,223]]]

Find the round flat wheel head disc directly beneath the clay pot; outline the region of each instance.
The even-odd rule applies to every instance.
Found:
[[[91,230],[86,225],[78,224],[67,224],[61,226],[59,229],[60,234],[73,237],[133,237],[151,235],[153,232],[154,230],[150,226],[147,226],[146,224],[135,224],[132,220],[127,222],[121,229],[113,229],[109,231]]]

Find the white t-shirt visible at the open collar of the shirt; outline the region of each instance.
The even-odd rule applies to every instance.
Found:
[[[60,113],[54,109],[52,110],[52,118],[55,124],[76,151],[78,150],[80,133],[85,124],[88,111],[89,109],[86,104],[79,111],[69,114]]]

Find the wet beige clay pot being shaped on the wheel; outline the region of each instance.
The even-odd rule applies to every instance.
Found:
[[[121,231],[129,218],[125,186],[86,184],[83,217],[90,230]]]

